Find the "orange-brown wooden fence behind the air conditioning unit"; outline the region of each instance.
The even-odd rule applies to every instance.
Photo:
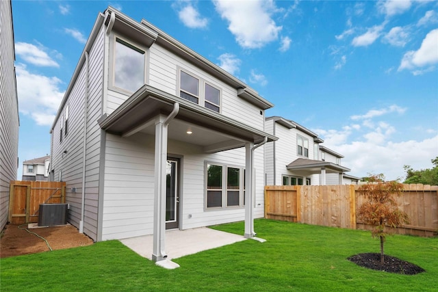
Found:
[[[11,224],[38,222],[40,204],[64,203],[65,194],[65,182],[11,181],[8,221]]]

